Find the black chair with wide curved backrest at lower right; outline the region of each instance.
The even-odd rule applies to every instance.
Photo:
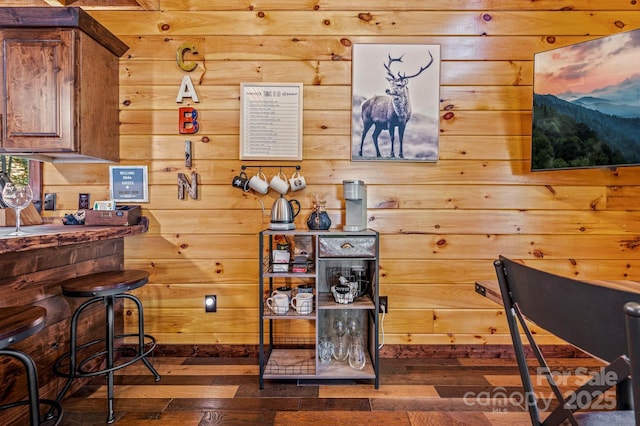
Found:
[[[640,333],[640,315],[629,316],[629,312],[640,310],[628,308],[625,315],[624,306],[627,302],[640,302],[640,295],[550,274],[503,256],[494,262],[494,266],[531,423],[558,425],[568,421],[573,425],[635,424],[630,394],[633,388],[634,398],[640,398],[640,385],[639,381],[631,381],[629,376],[633,365],[640,371],[640,336],[637,335]],[[578,389],[563,396],[527,326],[527,320],[607,365]],[[633,329],[629,328],[629,342],[627,322],[632,323],[636,330],[634,334]],[[518,326],[524,332],[539,364],[539,371],[546,378],[557,402],[544,420],[541,420],[539,401],[532,385]],[[604,392],[613,386],[617,387],[617,410],[578,412],[588,408],[598,398],[602,399]]]

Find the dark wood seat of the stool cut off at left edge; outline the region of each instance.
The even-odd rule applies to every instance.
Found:
[[[41,306],[0,308],[0,349],[42,330],[47,310]]]

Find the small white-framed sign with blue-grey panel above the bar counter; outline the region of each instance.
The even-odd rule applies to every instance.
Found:
[[[111,199],[121,202],[149,202],[147,166],[110,166]]]

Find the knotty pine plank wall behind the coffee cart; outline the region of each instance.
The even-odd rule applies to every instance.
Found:
[[[315,195],[340,226],[342,180],[368,184],[388,345],[509,344],[501,310],[473,291],[495,278],[499,254],[574,277],[640,279],[639,168],[528,172],[534,53],[640,28],[635,1],[160,0],[158,11],[90,13],[130,46],[121,157],[149,166],[151,225],[126,241],[125,258],[152,273],[140,295],[161,344],[258,342],[257,233],[268,222],[258,200],[273,196],[230,185],[243,164],[241,82],[304,83],[299,228]],[[189,74],[175,61],[184,42],[199,52]],[[437,163],[350,161],[356,43],[441,46]],[[184,75],[201,101],[189,138],[197,200],[177,198],[177,174],[191,171],[175,102]],[[106,165],[46,165],[44,179],[55,215],[74,211],[78,192],[108,198]],[[217,313],[205,314],[206,294],[218,295]]]

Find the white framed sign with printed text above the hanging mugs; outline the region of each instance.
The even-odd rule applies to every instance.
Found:
[[[240,89],[240,159],[302,160],[302,83]]]

